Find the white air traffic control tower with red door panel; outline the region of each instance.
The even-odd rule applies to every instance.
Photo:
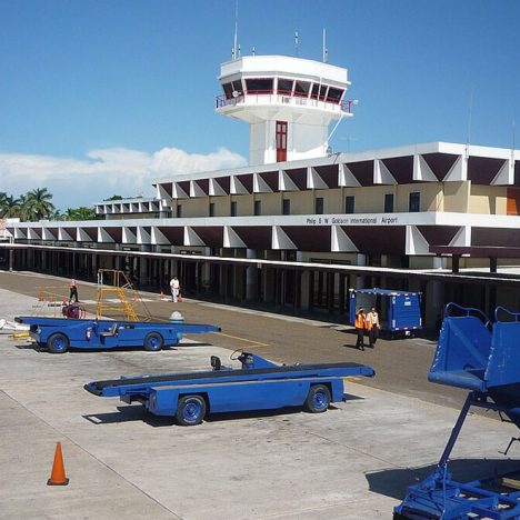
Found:
[[[222,63],[216,110],[249,123],[249,163],[326,157],[329,127],[351,117],[347,69],[283,56]]]

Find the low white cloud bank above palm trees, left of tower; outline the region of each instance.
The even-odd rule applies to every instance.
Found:
[[[226,148],[208,154],[162,148],[153,153],[126,148],[90,150],[86,159],[0,153],[0,191],[13,196],[47,188],[57,208],[92,206],[114,193],[153,194],[152,179],[238,168],[246,159]]]

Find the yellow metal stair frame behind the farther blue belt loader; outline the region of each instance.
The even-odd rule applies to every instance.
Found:
[[[119,300],[117,303],[109,299]],[[142,303],[146,314],[138,314],[133,302]],[[151,314],[123,271],[116,269],[98,269],[98,302],[96,319],[109,316],[123,316],[127,321],[151,321]]]

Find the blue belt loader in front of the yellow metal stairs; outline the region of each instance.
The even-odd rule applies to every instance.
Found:
[[[69,348],[104,350],[121,347],[143,347],[158,351],[179,344],[183,334],[218,332],[219,327],[197,323],[80,320],[66,318],[19,317],[29,326],[30,337],[52,353]]]

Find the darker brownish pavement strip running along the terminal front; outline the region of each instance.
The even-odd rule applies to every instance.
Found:
[[[68,298],[69,280],[36,273],[0,271],[0,288],[38,298],[40,291]],[[79,282],[79,296],[87,310],[94,312],[97,287]],[[220,334],[197,337],[227,349],[244,349],[281,363],[356,361],[370,364],[378,377],[363,381],[381,390],[416,397],[459,409],[466,392],[428,382],[427,374],[436,343],[414,338],[403,341],[380,339],[374,350],[354,348],[356,336],[344,323],[307,320],[238,307],[208,303],[184,298],[182,303],[161,301],[158,293],[141,293],[146,300],[137,304],[140,313],[168,320],[173,310],[182,312],[186,322],[211,323],[222,328]],[[59,309],[58,309],[59,310]],[[368,338],[366,338],[368,343]]]

